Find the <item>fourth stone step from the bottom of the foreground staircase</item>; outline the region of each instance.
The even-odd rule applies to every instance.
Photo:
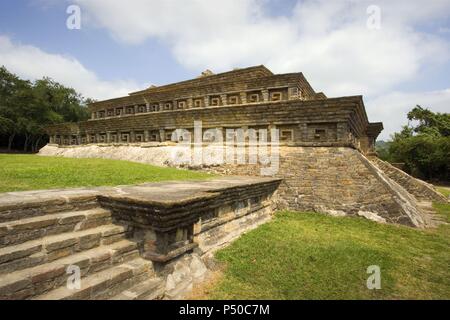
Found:
[[[127,228],[105,225],[0,248],[0,274],[31,268],[124,239]]]

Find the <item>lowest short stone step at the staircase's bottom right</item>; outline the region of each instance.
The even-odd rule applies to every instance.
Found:
[[[164,296],[165,281],[152,278],[139,283],[113,297],[110,300],[156,300]]]

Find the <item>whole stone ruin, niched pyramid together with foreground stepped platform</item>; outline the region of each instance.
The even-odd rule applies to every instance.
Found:
[[[214,270],[215,250],[278,209],[426,227],[430,201],[446,201],[375,156],[382,124],[360,96],[327,98],[301,73],[204,72],[89,107],[89,121],[49,127],[40,154],[179,166],[200,145],[241,148],[245,161],[202,153],[187,166],[238,175],[202,182],[0,194],[0,300],[183,298]]]

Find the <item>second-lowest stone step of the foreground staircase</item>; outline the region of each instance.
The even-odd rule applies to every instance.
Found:
[[[83,278],[80,289],[61,286],[33,300],[109,299],[153,276],[152,263],[136,258]]]

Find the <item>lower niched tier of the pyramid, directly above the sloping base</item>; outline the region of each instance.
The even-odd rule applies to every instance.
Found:
[[[176,129],[193,131],[194,123],[206,129],[279,129],[292,131],[281,143],[301,146],[354,146],[375,139],[367,136],[368,122],[360,96],[326,100],[291,100],[236,106],[207,107],[127,115],[49,126],[50,142],[58,145],[165,142]],[[380,124],[381,126],[381,124]],[[269,130],[270,131],[270,130]],[[371,151],[364,143],[364,152]]]

